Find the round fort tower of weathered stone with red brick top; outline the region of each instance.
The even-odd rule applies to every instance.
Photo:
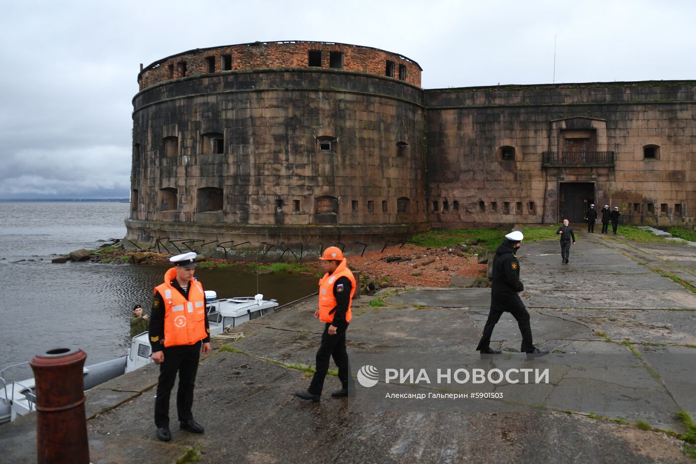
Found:
[[[194,49],[141,68],[126,239],[306,254],[427,229],[420,72],[332,42]]]

